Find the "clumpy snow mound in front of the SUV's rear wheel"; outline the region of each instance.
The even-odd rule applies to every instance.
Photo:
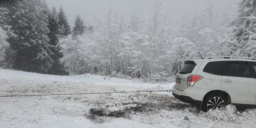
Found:
[[[226,105],[222,108],[211,109],[207,113],[200,113],[199,116],[210,120],[236,121],[245,120],[248,114],[246,112],[240,113],[234,105]]]

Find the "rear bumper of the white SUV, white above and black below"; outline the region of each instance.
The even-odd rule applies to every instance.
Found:
[[[184,91],[176,89],[175,86],[172,88],[172,94],[175,98],[185,103],[191,103],[199,106],[201,106],[205,94],[209,91],[210,90],[207,89],[194,87],[187,87]]]

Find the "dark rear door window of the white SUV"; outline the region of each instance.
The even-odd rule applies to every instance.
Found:
[[[249,64],[247,62],[227,62],[224,75],[251,78]]]

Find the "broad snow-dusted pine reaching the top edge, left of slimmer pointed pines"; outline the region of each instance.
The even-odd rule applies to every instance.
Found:
[[[47,73],[52,66],[52,59],[49,56],[52,52],[47,43],[49,29],[47,28],[47,16],[43,13],[45,8],[41,0],[27,0],[26,4],[29,33],[25,35],[23,42],[24,47],[20,55],[21,66],[23,70]]]

